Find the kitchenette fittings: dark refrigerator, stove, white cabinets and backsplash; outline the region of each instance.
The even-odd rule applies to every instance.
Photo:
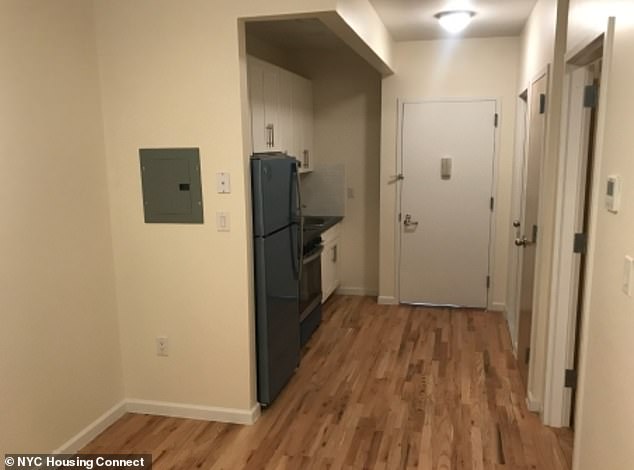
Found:
[[[258,401],[300,366],[340,284],[345,165],[314,152],[312,82],[249,56]]]

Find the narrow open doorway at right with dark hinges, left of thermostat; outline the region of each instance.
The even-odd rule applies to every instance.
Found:
[[[567,62],[544,421],[575,426],[604,36]]]

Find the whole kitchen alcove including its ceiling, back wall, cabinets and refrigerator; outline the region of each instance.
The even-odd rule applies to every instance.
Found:
[[[312,353],[328,299],[377,293],[381,76],[317,19],[245,27],[266,407]]]

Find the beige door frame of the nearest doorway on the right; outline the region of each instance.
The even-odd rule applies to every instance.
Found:
[[[559,151],[559,175],[558,175],[558,191],[557,191],[557,218],[555,223],[555,244],[552,258],[552,283],[551,298],[549,300],[548,314],[548,338],[546,351],[546,381],[544,389],[544,424],[553,427],[567,427],[570,424],[570,411],[572,406],[570,389],[564,385],[564,371],[570,361],[571,351],[574,354],[574,348],[578,347],[579,365],[577,371],[577,404],[581,402],[583,396],[585,355],[587,350],[587,330],[583,328],[588,323],[588,310],[590,305],[590,293],[592,286],[593,258],[594,258],[594,234],[596,233],[597,212],[600,207],[601,197],[601,161],[603,148],[604,132],[605,132],[605,103],[607,102],[607,87],[610,72],[610,57],[612,55],[614,43],[614,18],[608,21],[605,32],[586,39],[580,45],[572,49],[566,54],[566,90],[564,94],[562,122],[561,122],[561,143]],[[597,50],[600,50],[597,56]],[[602,69],[600,78],[600,89],[598,97],[598,107],[596,110],[595,137],[593,151],[593,162],[591,168],[591,181],[586,181],[586,175],[566,175],[562,168],[565,168],[567,160],[567,141],[568,141],[568,120],[570,113],[570,93],[568,93],[571,73],[580,68],[586,68],[594,63],[597,58],[602,59]],[[589,136],[584,133],[583,139]],[[590,149],[588,149],[590,150]],[[576,164],[579,159],[585,159],[587,155],[576,155]],[[563,234],[574,230],[571,224],[565,224],[562,217],[562,210],[568,198],[563,191],[564,183],[567,178],[568,183],[573,187],[586,188],[586,183],[591,185],[591,192],[588,195],[588,247],[586,252],[585,279],[584,285],[577,285],[575,291],[571,291],[570,287],[561,288],[560,280],[570,280],[575,275],[574,258],[564,257],[564,253],[570,251],[570,246],[564,244]],[[564,286],[565,287],[565,286]],[[579,335],[579,343],[576,345],[574,327],[577,322],[577,310],[574,308],[575,303],[571,302],[572,295],[576,295],[580,289],[584,290],[583,299],[579,308],[581,310],[581,334]],[[572,332],[572,334],[571,334]],[[576,345],[576,346],[575,346]],[[576,407],[576,416],[579,416],[581,407]],[[582,421],[575,418],[577,429],[580,428]],[[576,433],[579,434],[579,433]],[[574,454],[578,452],[578,442],[575,439]],[[576,460],[576,458],[575,458]]]

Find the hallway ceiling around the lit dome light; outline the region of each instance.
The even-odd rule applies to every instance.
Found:
[[[472,23],[460,37],[518,36],[537,0],[370,0],[395,41],[453,37],[434,15],[473,10]]]

